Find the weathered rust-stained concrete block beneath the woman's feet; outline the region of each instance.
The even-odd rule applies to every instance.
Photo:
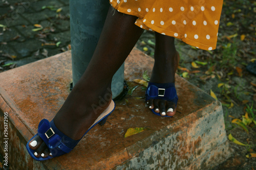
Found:
[[[134,48],[125,62],[125,79],[149,73],[154,60]],[[69,154],[38,162],[26,150],[41,119],[51,120],[72,82],[71,52],[0,74],[0,121],[8,112],[8,161],[12,169],[209,169],[229,157],[221,103],[176,75],[175,117],[160,117],[144,104],[139,87],[116,102],[103,127],[94,127]],[[128,128],[150,130],[124,138]],[[3,143],[4,126],[0,126]],[[4,155],[4,145],[1,144]]]

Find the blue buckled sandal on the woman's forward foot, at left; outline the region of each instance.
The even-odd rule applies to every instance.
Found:
[[[106,110],[104,110],[103,113],[100,114],[100,116],[95,120],[94,124],[86,131],[86,133],[84,133],[84,135],[86,135],[87,132],[89,132],[97,124],[99,124],[100,126],[103,126],[106,122],[106,119],[114,111],[114,109],[115,109],[115,103],[112,100],[109,107]],[[43,158],[41,156],[38,158],[35,157],[34,155],[35,150],[32,150],[29,147],[29,143],[32,139],[34,139],[35,137],[34,136],[28,141],[26,148],[30,156],[33,159],[38,161],[44,161],[47,159],[51,159],[53,157],[57,157],[57,156],[69,153],[75,148],[75,146],[84,136],[83,135],[80,140],[73,140],[70,137],[63,134],[62,132],[60,132],[54,125],[53,120],[49,122],[47,119],[41,120],[41,122],[38,125],[37,131],[38,133],[35,136],[39,135],[40,138],[44,140],[44,142],[46,143],[46,145],[50,150],[50,153],[52,154],[52,156],[49,155],[46,158]]]

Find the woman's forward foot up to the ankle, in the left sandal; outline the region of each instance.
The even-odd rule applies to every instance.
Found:
[[[109,106],[112,100],[110,85],[94,91],[88,90],[93,87],[75,86],[53,119],[55,126],[70,138],[79,140]],[[46,143],[38,135],[31,140],[29,147],[34,150],[37,158],[52,156]]]

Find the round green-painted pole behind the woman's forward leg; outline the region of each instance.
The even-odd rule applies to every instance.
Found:
[[[70,0],[73,85],[86,70],[98,43],[110,4],[106,0]],[[123,91],[124,64],[112,79],[113,99]]]

